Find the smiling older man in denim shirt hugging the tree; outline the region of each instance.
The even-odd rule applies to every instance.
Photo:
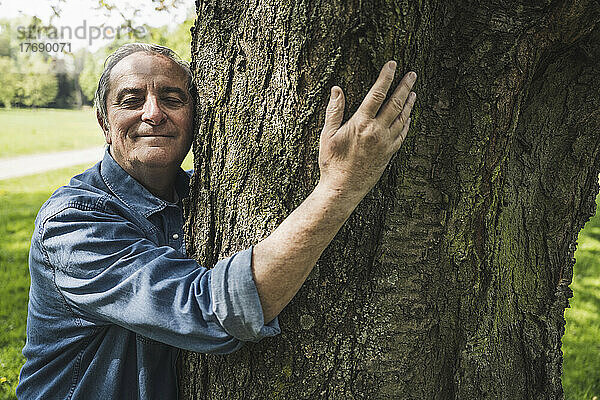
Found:
[[[115,51],[96,93],[104,159],[36,219],[17,395],[174,399],[179,349],[230,353],[279,333],[277,315],[406,137],[416,74],[384,103],[395,68],[343,125],[332,88],[314,191],[266,239],[206,269],[186,257],[182,232],[189,67],[161,46]]]

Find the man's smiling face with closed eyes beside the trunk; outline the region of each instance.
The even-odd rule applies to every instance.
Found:
[[[106,142],[125,170],[179,166],[192,140],[192,101],[183,69],[167,57],[137,52],[112,69]]]

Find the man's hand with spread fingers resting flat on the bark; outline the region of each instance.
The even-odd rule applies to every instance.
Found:
[[[319,149],[319,184],[351,197],[362,197],[381,177],[406,138],[417,98],[411,92],[417,74],[409,72],[385,104],[396,63],[384,65],[356,113],[344,125],[344,93],[331,89]]]

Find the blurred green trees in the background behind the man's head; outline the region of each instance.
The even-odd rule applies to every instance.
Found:
[[[39,18],[0,19],[0,104],[4,108],[74,108],[91,105],[104,60],[124,43],[156,43],[173,49],[190,61],[190,28],[193,18],[172,27],[143,25],[143,37],[123,35],[90,52],[79,49],[60,56],[44,51],[22,51],[18,27],[46,26]],[[131,25],[127,20],[125,25]]]

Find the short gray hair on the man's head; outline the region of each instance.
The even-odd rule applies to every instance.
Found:
[[[98,114],[100,115],[100,118],[102,118],[102,122],[104,122],[105,127],[108,127],[106,96],[108,95],[110,72],[119,61],[139,51],[165,56],[179,65],[187,75],[187,90],[192,101],[194,100],[192,71],[190,70],[190,65],[187,61],[182,60],[177,53],[165,46],[148,43],[127,43],[119,47],[106,58],[106,61],[104,62],[104,71],[102,71],[102,75],[98,81],[96,95],[94,96],[94,105],[96,106],[96,110],[98,110]]]

